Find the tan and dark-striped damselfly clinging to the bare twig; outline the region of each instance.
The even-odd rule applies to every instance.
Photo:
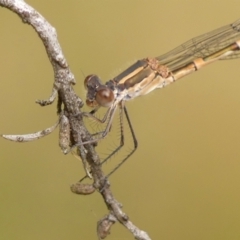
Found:
[[[116,171],[137,148],[137,140],[128,117],[125,101],[146,95],[156,88],[163,88],[217,60],[238,58],[240,56],[239,50],[240,19],[233,24],[193,38],[159,57],[139,60],[105,84],[101,83],[98,76],[89,75],[84,81],[87,90],[86,103],[94,109],[84,115],[100,123],[106,123],[106,128],[103,132],[97,133],[95,139],[84,142],[83,144],[99,141],[108,134],[117,107],[120,108],[121,126],[122,115],[123,112],[125,113],[133,136],[134,149],[108,174],[109,176]],[[94,113],[97,112],[100,107],[108,108],[102,119],[94,116]],[[124,144],[122,129],[121,127],[121,142],[119,148]]]

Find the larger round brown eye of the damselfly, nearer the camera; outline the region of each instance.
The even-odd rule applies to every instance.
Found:
[[[96,94],[96,101],[102,107],[110,107],[114,101],[112,90],[107,87],[99,88]]]

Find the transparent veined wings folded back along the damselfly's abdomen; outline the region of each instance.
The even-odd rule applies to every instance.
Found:
[[[157,59],[166,65],[170,71],[176,70],[196,58],[206,57],[240,39],[240,19],[236,22],[215,29],[211,32],[193,38]],[[240,57],[240,51],[221,58],[221,60]]]

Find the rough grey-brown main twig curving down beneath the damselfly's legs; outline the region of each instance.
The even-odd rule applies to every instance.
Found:
[[[80,108],[83,106],[82,100],[75,94],[72,85],[75,84],[74,75],[70,71],[67,61],[62,53],[62,49],[57,40],[56,30],[40,15],[35,9],[22,0],[0,0],[0,6],[8,8],[19,15],[24,23],[30,24],[38,33],[42,40],[48,58],[54,71],[54,84],[52,94],[47,100],[37,100],[41,106],[53,103],[58,93],[58,113],[63,111],[70,124],[70,139],[65,136],[68,130],[64,130],[64,140],[61,142],[64,149],[66,143],[70,140],[71,144],[79,144],[90,141],[92,136],[85,128],[82,121]],[[61,106],[64,106],[63,110]],[[61,116],[60,116],[61,117]],[[60,136],[63,137],[63,135]],[[60,144],[60,145],[61,145]],[[136,239],[149,240],[146,232],[138,229],[122,211],[121,204],[114,198],[108,180],[102,172],[100,160],[91,144],[80,145],[78,153],[82,160],[86,160],[91,168],[91,174],[94,179],[93,185],[77,183],[71,186],[71,190],[78,194],[91,194],[95,189],[102,195],[109,213],[98,221],[97,234],[99,239],[105,238],[110,233],[111,226],[118,220]]]

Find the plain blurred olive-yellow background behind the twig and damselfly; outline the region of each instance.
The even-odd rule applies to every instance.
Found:
[[[240,17],[235,0],[28,3],[57,29],[83,98],[83,73],[108,80],[137,59],[163,54]],[[5,8],[0,52],[0,133],[53,125],[56,102],[35,104],[50,95],[53,84],[44,47]],[[240,59],[215,63],[127,103],[139,149],[110,181],[123,210],[152,239],[240,239],[239,64]],[[111,137],[99,152],[109,151]],[[70,192],[84,171],[61,153],[57,139],[58,131],[25,144],[0,139],[0,239],[96,239],[106,207],[98,193]],[[116,224],[108,239],[133,237]]]

